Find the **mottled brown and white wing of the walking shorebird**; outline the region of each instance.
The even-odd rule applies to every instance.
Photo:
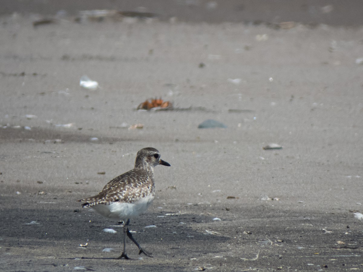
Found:
[[[154,189],[154,181],[143,169],[133,169],[108,182],[94,197],[79,200],[82,207],[121,201],[132,203]]]

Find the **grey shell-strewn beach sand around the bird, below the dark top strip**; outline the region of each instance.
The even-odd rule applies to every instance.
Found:
[[[362,269],[362,26],[40,17],[0,17],[1,271]],[[184,110],[135,111],[160,96]],[[143,147],[171,164],[130,225],[155,257],[114,260],[121,228],[76,200]]]

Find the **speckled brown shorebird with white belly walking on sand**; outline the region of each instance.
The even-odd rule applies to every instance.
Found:
[[[130,219],[138,217],[151,205],[155,196],[154,167],[170,166],[160,158],[157,149],[147,147],[136,154],[135,168],[109,181],[102,191],[93,197],[77,200],[82,207],[92,207],[103,217],[114,221],[123,221],[123,251],[116,259],[131,259],[126,254],[126,235],[143,253],[153,257],[136,242],[129,231]]]

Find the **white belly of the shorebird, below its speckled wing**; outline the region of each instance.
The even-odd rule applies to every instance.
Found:
[[[133,203],[112,202],[110,204],[98,204],[93,206],[99,214],[115,221],[126,221],[142,214],[150,206],[154,194],[149,194]]]

